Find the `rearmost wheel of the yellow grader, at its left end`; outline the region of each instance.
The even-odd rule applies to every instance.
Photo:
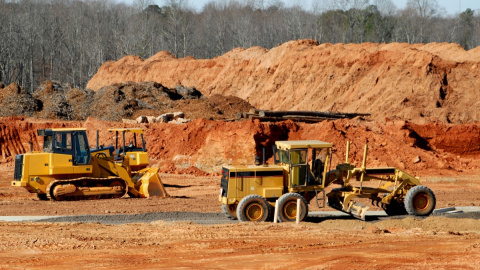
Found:
[[[270,215],[267,200],[260,195],[248,195],[237,206],[237,218],[240,221],[262,222]]]

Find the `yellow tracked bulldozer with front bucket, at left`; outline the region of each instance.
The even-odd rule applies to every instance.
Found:
[[[24,187],[41,200],[168,196],[158,169],[148,168],[143,130],[109,131],[115,132],[115,147],[99,146],[97,132],[97,147],[90,149],[86,129],[39,129],[43,149],[15,157],[11,185]],[[133,137],[128,145],[127,135]]]

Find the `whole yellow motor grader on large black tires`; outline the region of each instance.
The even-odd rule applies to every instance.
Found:
[[[349,163],[349,149],[347,142],[345,163],[331,171],[332,144],[317,140],[277,141],[274,165],[264,161],[263,165],[224,166],[219,196],[222,211],[230,219],[265,221],[272,219],[278,200],[278,220],[291,222],[296,220],[299,199],[303,220],[312,199],[317,204],[323,200],[325,207],[325,188],[333,183],[341,187],[326,195],[328,205],[362,220],[368,207],[355,202],[356,198],[381,204],[388,215],[427,216],[433,211],[435,195],[418,178],[393,167],[367,168],[367,145],[362,166],[356,168]],[[360,185],[353,186],[353,180]],[[372,180],[378,184],[368,187]]]

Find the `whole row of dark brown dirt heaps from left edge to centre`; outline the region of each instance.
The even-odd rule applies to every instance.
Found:
[[[16,84],[0,92],[0,116],[43,119],[81,121],[95,117],[121,121],[175,111],[184,112],[188,118],[232,119],[237,112],[251,108],[238,97],[213,95],[206,98],[193,87],[166,88],[155,82],[117,83],[94,92],[46,81],[33,95]]]

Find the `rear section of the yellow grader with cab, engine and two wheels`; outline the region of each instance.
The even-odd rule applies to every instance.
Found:
[[[294,221],[297,199],[301,219],[308,201],[325,187],[332,144],[322,141],[277,141],[273,165],[224,166],[220,202],[227,217],[265,221],[273,216],[278,200],[282,222]]]

